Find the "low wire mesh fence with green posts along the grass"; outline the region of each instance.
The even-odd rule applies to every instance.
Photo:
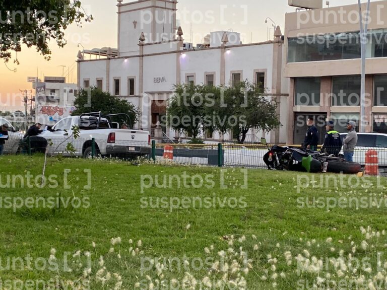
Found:
[[[263,161],[268,149],[263,144],[235,143],[156,143],[134,140],[109,143],[105,139],[63,137],[49,140],[31,137],[21,142],[19,135],[10,135],[5,141],[4,154],[44,154],[67,157],[103,157],[136,159],[143,157],[154,161],[169,160],[179,164],[203,166],[227,166],[266,168]],[[270,146],[269,146],[270,147]],[[340,154],[343,154],[341,151]],[[367,158],[368,156],[368,158]],[[367,161],[368,159],[368,161]],[[356,148],[353,161],[363,167],[368,163],[378,167],[379,172],[387,172],[387,148]]]

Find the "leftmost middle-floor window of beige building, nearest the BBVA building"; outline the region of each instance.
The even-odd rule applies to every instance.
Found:
[[[320,78],[296,78],[294,105],[319,106],[320,89]]]

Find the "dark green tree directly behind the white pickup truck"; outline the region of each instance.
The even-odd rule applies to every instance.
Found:
[[[138,109],[127,101],[114,97],[109,93],[102,92],[96,87],[82,89],[79,91],[74,106],[76,110],[72,115],[80,115],[82,113],[102,112],[102,114],[119,114],[124,113],[129,115],[130,120],[125,117],[117,116],[114,120],[119,124],[125,124],[133,128],[138,120]]]

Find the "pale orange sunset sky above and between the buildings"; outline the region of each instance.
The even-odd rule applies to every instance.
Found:
[[[131,2],[130,0],[123,3]],[[324,0],[324,4],[325,4]],[[95,47],[117,47],[117,7],[116,0],[82,0],[85,10],[92,14],[94,20],[78,28],[75,24],[66,31],[68,44],[64,48],[58,48],[55,42],[51,43],[52,56],[46,61],[35,49],[23,47],[17,58],[20,65],[14,65],[10,61],[8,67],[16,68],[13,72],[4,63],[0,64],[0,111],[15,110],[22,107],[20,92],[31,90],[32,84],[27,83],[28,76],[64,76],[68,82],[77,80],[77,64],[75,62],[78,50],[77,44],[82,43],[85,49]],[[332,6],[356,4],[357,0],[331,0]],[[227,24],[221,23],[221,5],[226,5],[225,19]],[[247,9],[245,9],[245,7]],[[325,5],[324,5],[325,7]],[[267,17],[272,18],[283,31],[285,13],[295,11],[288,6],[288,0],[180,0],[177,5],[177,18],[181,21],[184,32],[184,40],[194,44],[202,42],[202,38],[211,31],[228,30],[240,32],[244,43],[261,42],[268,39],[268,28],[272,23],[265,23]],[[211,11],[215,23],[198,23],[201,15]],[[244,13],[247,11],[247,14]],[[184,12],[184,13],[182,13]],[[247,15],[247,18],[244,17]],[[193,22],[193,23],[192,23]],[[190,30],[195,35],[191,40]],[[273,33],[273,31],[271,31]],[[14,55],[15,56],[15,55]],[[65,68],[62,65],[66,66]]]

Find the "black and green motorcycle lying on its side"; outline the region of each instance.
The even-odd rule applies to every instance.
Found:
[[[268,169],[345,174],[356,174],[361,171],[359,163],[347,162],[343,158],[329,156],[326,153],[292,146],[274,145],[270,149],[265,138],[261,139],[261,143],[269,150],[264,156]]]

